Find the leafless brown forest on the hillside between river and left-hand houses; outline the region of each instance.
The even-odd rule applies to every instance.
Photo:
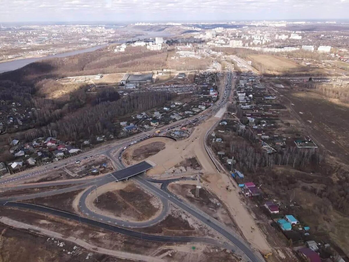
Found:
[[[158,107],[173,95],[141,92],[120,97],[113,87],[104,87],[97,94],[88,95],[86,83],[61,85],[55,79],[162,69],[166,67],[166,58],[166,50],[129,48],[128,52],[119,54],[104,48],[67,58],[46,59],[0,74],[0,100],[34,109],[35,129],[22,138],[27,141],[40,136],[54,136],[64,141],[101,134],[118,136],[114,123],[119,116]]]

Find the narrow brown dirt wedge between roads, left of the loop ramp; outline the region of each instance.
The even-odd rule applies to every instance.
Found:
[[[22,202],[43,205],[49,208],[76,213],[76,209],[74,209],[73,202],[74,202],[74,199],[82,191],[83,189],[72,191],[72,192],[66,192],[66,193],[58,194],[54,196],[38,197],[35,199],[23,200]]]

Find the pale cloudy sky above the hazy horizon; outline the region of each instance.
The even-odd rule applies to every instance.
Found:
[[[0,0],[0,7],[0,22],[349,17],[349,0]]]

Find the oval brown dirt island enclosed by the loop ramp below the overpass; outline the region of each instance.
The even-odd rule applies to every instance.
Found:
[[[157,197],[144,191],[132,181],[109,183],[98,188],[98,202],[95,194],[88,197],[87,202],[91,204],[91,201],[95,207],[92,210],[102,211],[128,221],[151,219],[162,208]]]

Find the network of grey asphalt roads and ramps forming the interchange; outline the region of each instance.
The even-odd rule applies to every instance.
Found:
[[[222,90],[222,95],[220,96],[220,99],[209,109],[203,111],[201,114],[196,115],[195,117],[192,118],[186,118],[183,119],[182,121],[175,122],[171,125],[164,126],[161,128],[161,132],[166,132],[167,130],[174,128],[174,127],[180,127],[182,125],[187,125],[189,123],[198,123],[203,121],[204,119],[214,115],[220,108],[224,107],[228,101],[228,98],[230,96],[231,92],[231,83],[232,83],[232,72],[229,71],[227,74],[227,84],[225,85],[224,90]],[[17,180],[22,180],[25,178],[28,178],[28,176],[34,176],[36,174],[40,174],[42,172],[47,172],[47,170],[53,169],[55,167],[63,167],[65,165],[68,165],[69,163],[75,161],[76,159],[83,159],[83,158],[88,158],[92,157],[94,155],[99,155],[99,154],[105,154],[107,155],[113,162],[113,166],[117,168],[125,168],[124,165],[122,164],[121,160],[121,153],[123,152],[123,148],[125,146],[128,146],[132,141],[140,141],[142,139],[148,138],[148,135],[150,132],[143,132],[140,134],[137,134],[131,138],[119,140],[117,142],[114,142],[109,145],[102,145],[98,148],[95,148],[89,152],[85,152],[82,154],[79,154],[75,156],[74,159],[65,159],[60,161],[59,163],[55,163],[54,166],[47,165],[44,168],[41,168],[39,170],[30,172],[28,174],[21,174],[16,177],[9,178],[7,180],[2,180],[0,184],[7,184],[10,182],[14,182]],[[114,157],[112,154],[113,151],[117,151],[117,155],[119,157]],[[208,152],[209,153],[209,152]],[[54,190],[54,191],[48,191],[48,192],[39,192],[36,194],[31,194],[27,196],[18,196],[18,197],[10,197],[7,199],[0,198],[0,202],[3,205],[6,206],[17,206],[18,208],[27,208],[27,209],[32,209],[32,210],[37,210],[41,212],[46,212],[50,214],[55,214],[57,216],[65,217],[68,219],[73,219],[76,221],[80,221],[82,223],[87,223],[90,225],[94,226],[99,226],[102,228],[106,228],[108,230],[112,230],[115,232],[119,232],[122,234],[127,234],[130,236],[142,238],[142,239],[147,239],[147,240],[153,240],[153,241],[164,241],[164,242],[205,242],[205,243],[213,243],[214,245],[220,245],[226,248],[234,248],[235,250],[238,249],[241,252],[245,254],[245,257],[249,261],[257,262],[257,261],[262,261],[260,254],[257,252],[254,252],[254,250],[250,247],[248,243],[246,243],[240,236],[235,234],[234,232],[227,230],[224,225],[222,225],[220,222],[215,220],[214,218],[210,217],[208,214],[194,208],[191,204],[183,202],[181,199],[177,198],[175,195],[173,195],[170,191],[167,189],[167,185],[170,181],[157,181],[162,183],[162,187],[158,188],[156,187],[152,182],[148,181],[145,179],[143,176],[137,176],[135,177],[135,180],[142,185],[146,190],[150,191],[157,197],[162,202],[163,209],[160,214],[150,220],[150,221],[145,221],[145,222],[130,222],[130,221],[122,221],[118,220],[116,218],[111,218],[108,216],[105,216],[103,214],[96,213],[94,211],[91,211],[88,206],[86,205],[86,198],[93,190],[98,188],[99,186],[102,186],[104,184],[110,183],[112,181],[116,181],[115,177],[112,175],[108,174],[102,177],[98,178],[93,178],[93,179],[86,179],[83,181],[74,181],[74,183],[81,183],[78,185],[72,185],[71,187],[64,188],[64,189],[59,189],[59,190]],[[172,180],[173,181],[173,180]],[[62,183],[68,183],[68,182],[62,182]],[[60,185],[61,183],[59,181],[55,182],[50,182],[50,185]],[[69,184],[73,184],[73,182],[70,182]],[[45,183],[45,186],[48,184]],[[20,185],[15,187],[17,188],[30,188],[28,185]],[[37,187],[36,185],[32,185],[31,187]],[[33,198],[33,197],[42,197],[42,196],[49,196],[49,195],[54,195],[54,194],[60,194],[62,192],[67,192],[67,191],[73,191],[76,190],[77,188],[86,188],[89,187],[84,193],[82,194],[80,200],[79,200],[79,208],[84,214],[84,216],[88,216],[89,218],[86,217],[81,217],[75,214],[55,210],[55,209],[50,209],[38,205],[32,205],[32,204],[24,204],[24,203],[15,203],[15,202],[9,202],[9,201],[16,201],[20,199],[28,199],[28,198]],[[207,239],[207,238],[195,238],[195,237],[172,237],[172,236],[158,236],[158,235],[150,235],[150,234],[142,234],[139,232],[135,232],[132,230],[127,230],[122,227],[146,227],[150,226],[153,224],[158,223],[162,219],[166,217],[169,211],[169,202],[171,202],[174,205],[177,205],[179,208],[185,210],[186,212],[190,213],[192,216],[194,216],[196,219],[199,219],[202,223],[206,224],[222,236],[229,240],[233,245],[230,243],[220,243],[217,242],[216,240],[213,239]],[[120,227],[122,226],[122,227]]]

